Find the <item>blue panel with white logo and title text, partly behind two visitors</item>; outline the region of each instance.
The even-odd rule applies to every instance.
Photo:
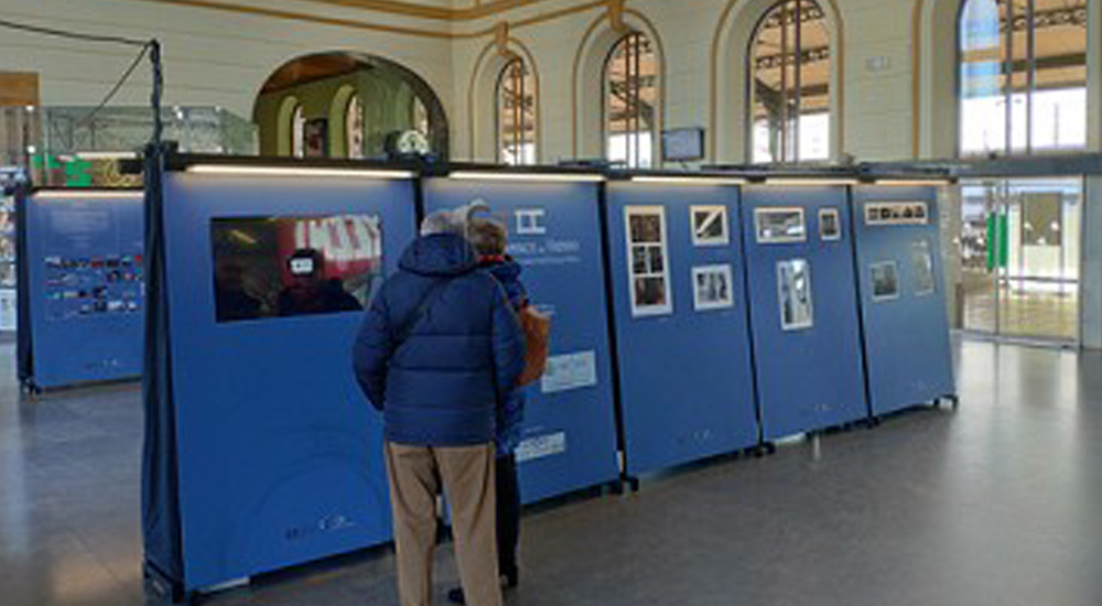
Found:
[[[509,226],[532,304],[551,314],[551,357],[528,388],[518,448],[533,502],[619,477],[596,183],[424,181],[426,212],[483,201]]]

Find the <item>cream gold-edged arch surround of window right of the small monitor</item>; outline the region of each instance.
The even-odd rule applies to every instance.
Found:
[[[817,0],[825,12],[830,33],[830,158],[845,149],[845,32],[836,0]],[[749,65],[746,59],[758,23],[777,0],[728,0],[712,36],[709,99],[709,159],[746,163],[753,125],[749,120]]]

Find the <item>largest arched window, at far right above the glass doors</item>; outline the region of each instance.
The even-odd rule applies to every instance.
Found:
[[[1087,147],[1087,0],[964,0],[961,154]]]

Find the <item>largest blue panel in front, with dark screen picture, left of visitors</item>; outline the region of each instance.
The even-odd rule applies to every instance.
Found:
[[[388,541],[350,353],[414,236],[413,182],[176,172],[164,199],[184,588]]]

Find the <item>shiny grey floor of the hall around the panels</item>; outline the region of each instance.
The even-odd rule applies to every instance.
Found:
[[[0,346],[10,369],[10,346]],[[527,606],[1102,604],[1102,356],[965,342],[962,405],[576,499],[525,519]],[[0,380],[0,605],[126,606],[139,398]],[[456,578],[440,551],[440,587]],[[214,605],[389,605],[386,550]]]

